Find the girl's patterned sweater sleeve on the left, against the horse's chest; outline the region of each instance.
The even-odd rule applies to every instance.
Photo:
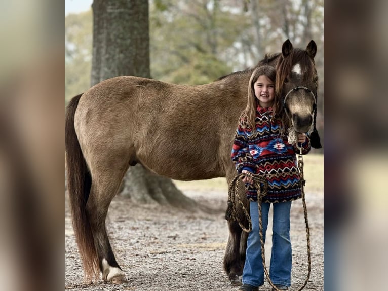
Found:
[[[254,172],[255,165],[249,152],[248,139],[246,122],[241,120],[236,130],[235,141],[230,154],[239,174],[243,170]]]

